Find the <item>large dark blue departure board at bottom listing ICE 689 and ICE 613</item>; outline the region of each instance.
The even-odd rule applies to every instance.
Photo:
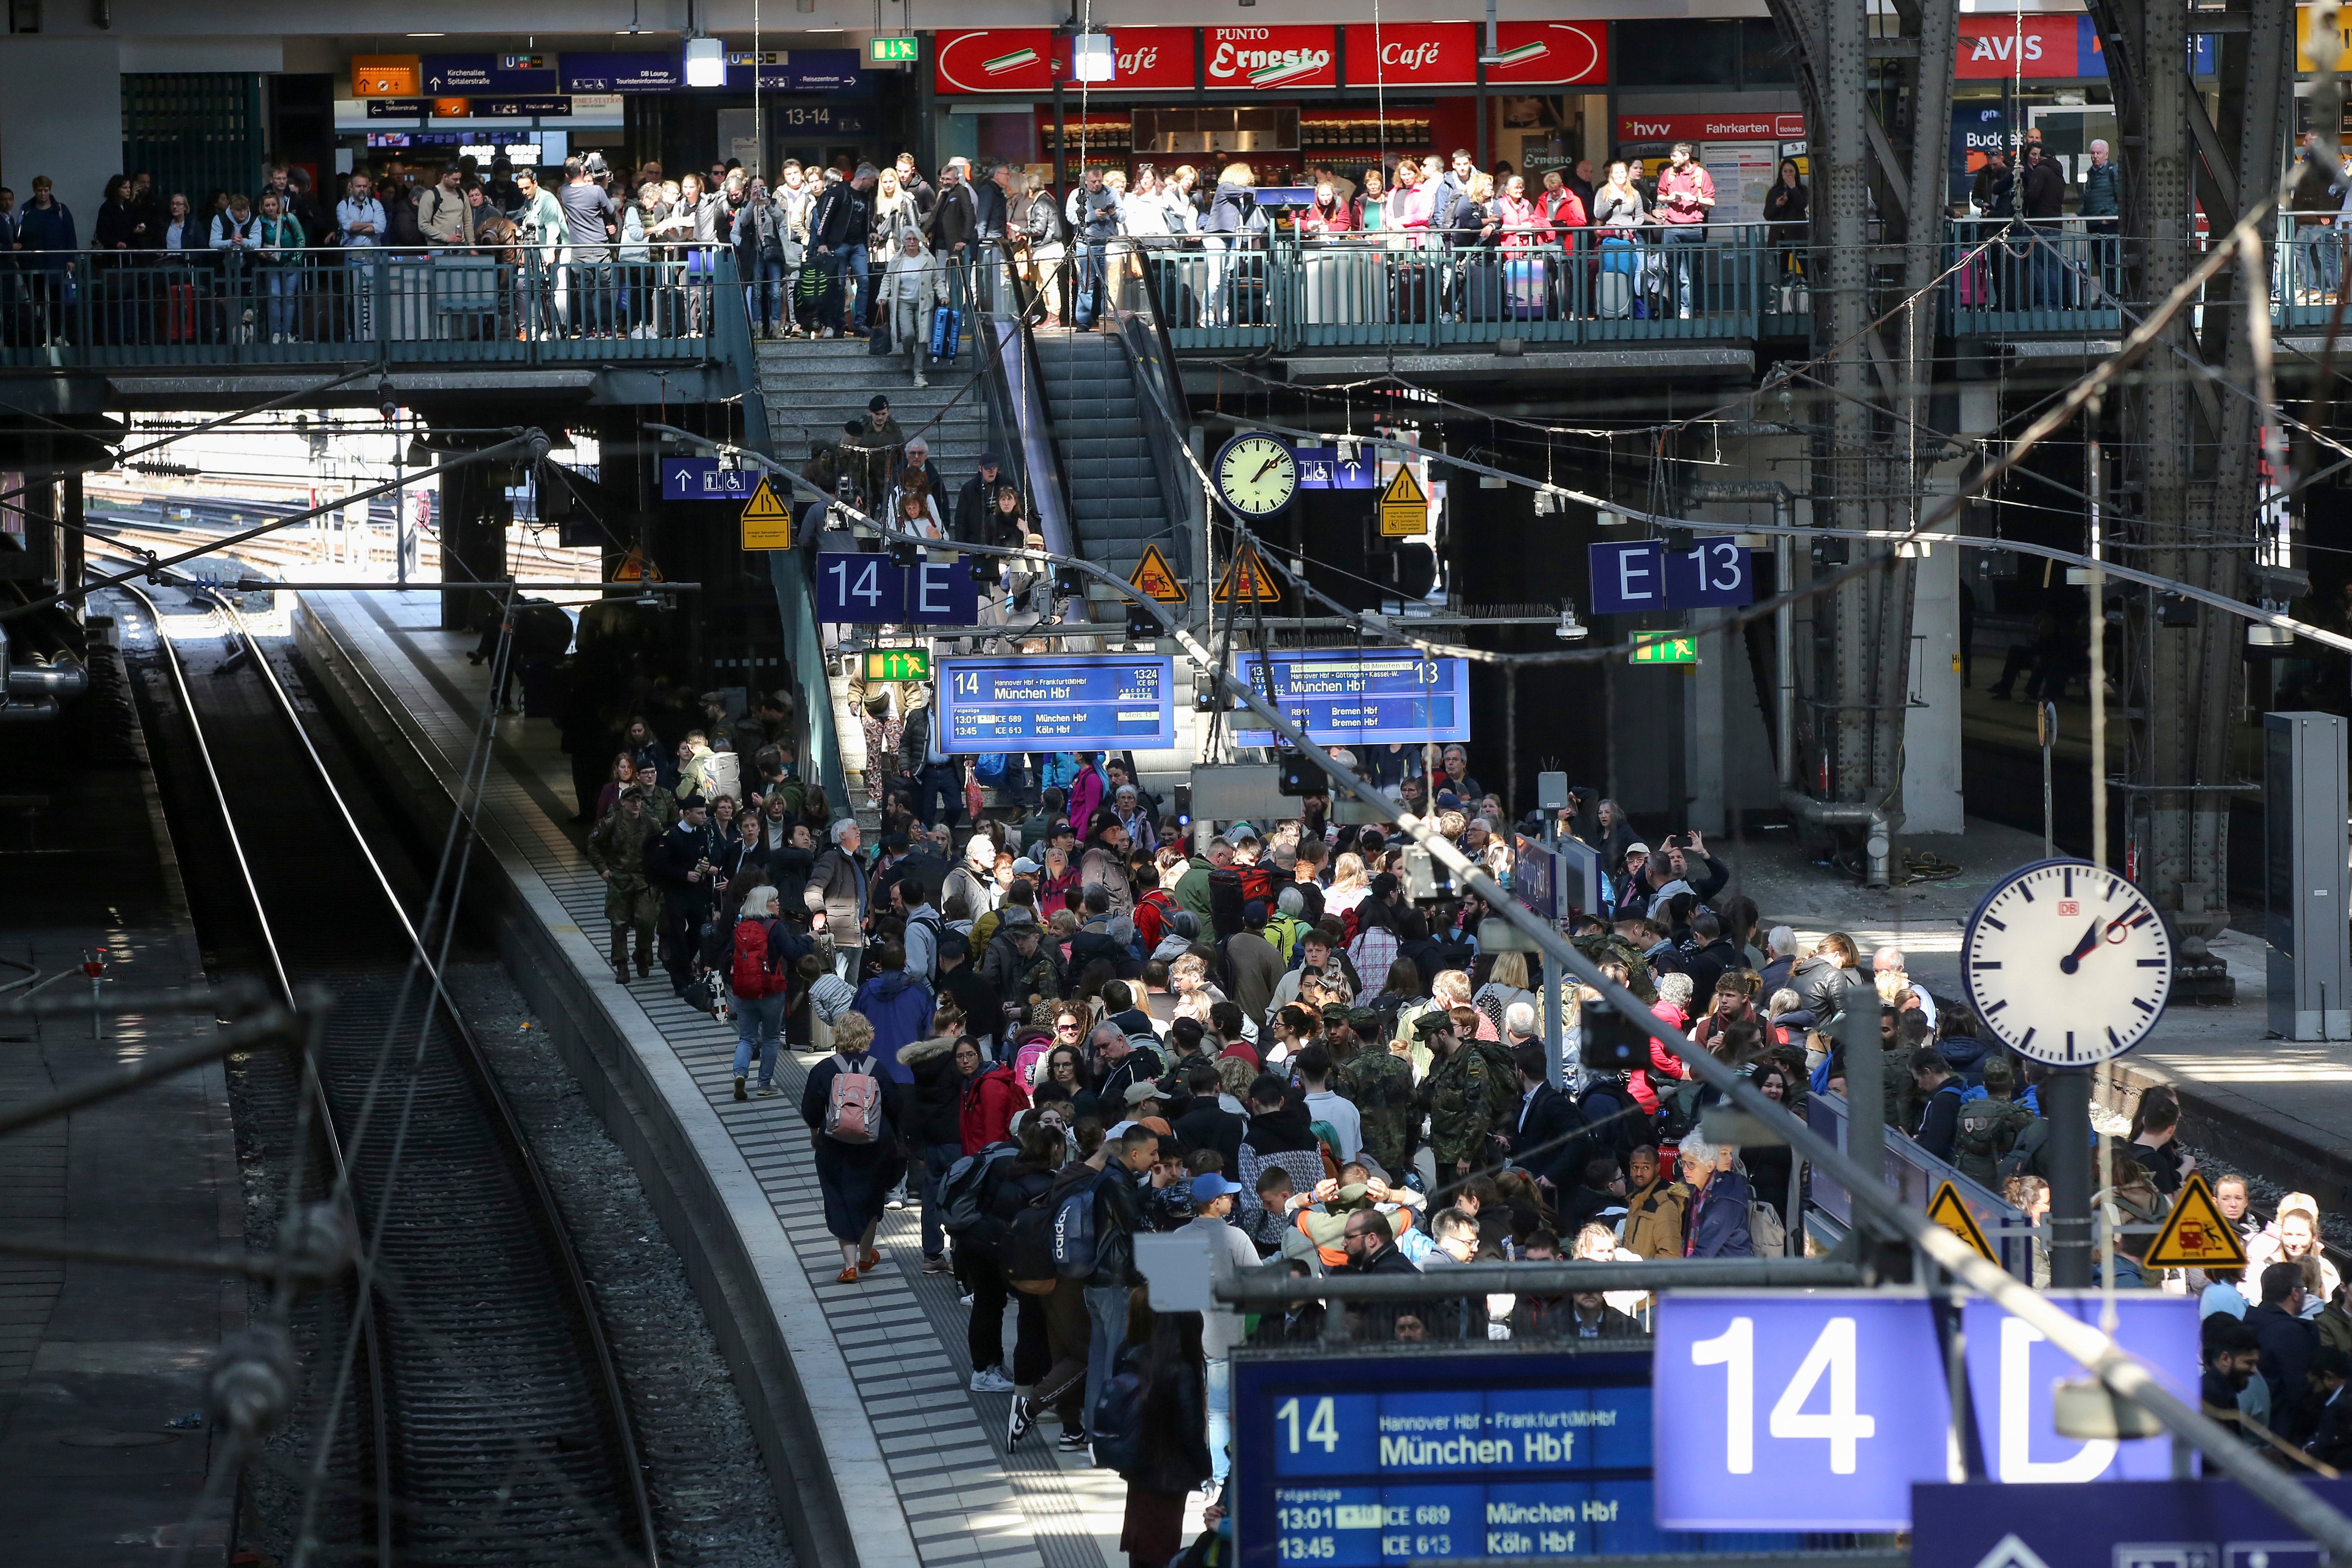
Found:
[[[1651,1356],[1235,1359],[1242,1568],[1795,1549],[1661,1530]]]

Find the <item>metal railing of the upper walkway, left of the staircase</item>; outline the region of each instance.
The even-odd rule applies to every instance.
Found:
[[[12,252],[0,364],[562,364],[715,360],[724,247]]]

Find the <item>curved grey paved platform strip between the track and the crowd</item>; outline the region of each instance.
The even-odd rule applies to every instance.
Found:
[[[447,830],[489,703],[470,635],[428,592],[308,592],[294,637],[327,698],[386,766],[430,842]],[[604,886],[581,858],[572,766],[543,719],[499,717],[468,896],[503,900],[524,994],[628,1150],[687,1258],[760,1432],[802,1561],[858,1568],[1117,1568],[1124,1483],[1058,1455],[1051,1429],[1007,1450],[1009,1394],[971,1394],[964,1307],[922,1274],[920,1213],[884,1215],[884,1267],[833,1284],[800,1086],[734,1100],[734,1030],[675,1001],[656,969],[621,987],[604,959]],[[1011,1314],[1007,1312],[1007,1335]],[[1009,1338],[1007,1338],[1009,1363]],[[1200,1500],[1192,1502],[1197,1526]]]

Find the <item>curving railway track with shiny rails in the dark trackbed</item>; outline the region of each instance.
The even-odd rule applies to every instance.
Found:
[[[179,592],[179,590],[174,590]],[[325,724],[235,609],[221,654],[125,637],[214,969],[334,994],[313,1091],[313,1197],[346,1197],[367,1269],[303,1302],[301,1446],[263,1486],[299,1563],[659,1563],[619,1368],[496,1074],[440,997],[428,889]],[[141,668],[143,665],[143,668]],[[202,889],[202,893],[198,893]],[[285,1133],[280,1131],[280,1138]],[[252,1495],[252,1493],[249,1493]]]

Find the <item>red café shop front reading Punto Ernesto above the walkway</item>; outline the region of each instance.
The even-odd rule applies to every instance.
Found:
[[[1261,186],[1308,167],[1355,174],[1397,153],[1470,148],[1573,162],[1606,125],[1609,24],[1501,24],[1479,61],[1468,21],[1263,28],[1108,28],[1108,75],[1080,82],[1054,28],[943,31],[931,87],[948,103],[941,155],[1033,165],[1162,169],[1244,160]],[[1089,66],[1091,68],[1091,66]],[[1590,87],[1585,92],[1562,92]],[[1058,89],[1058,92],[1056,92]]]

